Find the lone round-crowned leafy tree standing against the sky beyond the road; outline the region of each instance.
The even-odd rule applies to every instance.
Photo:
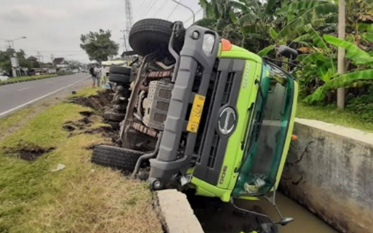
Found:
[[[80,47],[86,51],[89,59],[96,61],[106,61],[108,57],[118,53],[119,45],[110,40],[111,31],[100,29],[98,32],[82,34]]]

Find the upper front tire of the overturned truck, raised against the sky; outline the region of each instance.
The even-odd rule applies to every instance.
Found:
[[[157,49],[164,49],[167,54],[172,35],[173,23],[164,19],[142,19],[137,21],[129,32],[129,45],[135,53],[146,56]],[[184,44],[185,29],[176,38],[174,49],[179,52]]]

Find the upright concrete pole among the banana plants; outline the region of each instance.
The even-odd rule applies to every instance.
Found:
[[[345,0],[338,1],[338,38],[344,40],[346,35],[346,3]],[[345,73],[345,49],[338,47],[338,74]],[[337,89],[337,107],[340,110],[345,108],[345,88]]]

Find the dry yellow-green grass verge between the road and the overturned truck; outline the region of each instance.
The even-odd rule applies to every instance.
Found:
[[[1,139],[0,232],[162,232],[147,183],[90,163],[87,148],[109,140],[85,133],[100,127],[101,117],[90,116],[85,129],[62,129],[78,122],[81,111],[93,110],[56,104]],[[1,130],[16,122],[16,114],[0,120]],[[55,149],[34,161],[15,152],[38,147]],[[57,164],[66,167],[52,172]]]

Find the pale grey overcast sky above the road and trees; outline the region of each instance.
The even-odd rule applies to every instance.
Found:
[[[198,0],[182,0],[194,12],[200,10]],[[167,19],[177,6],[172,0],[132,0],[133,18]],[[169,17],[170,21],[186,21],[191,12],[178,6]],[[197,15],[202,18],[202,10]],[[192,23],[189,20],[185,24]],[[87,54],[79,47],[80,35],[89,31],[110,29],[112,40],[120,44],[120,29],[125,29],[124,0],[1,0],[0,3],[0,50],[7,46],[5,40],[26,36],[14,42],[16,50],[22,48],[27,56],[43,55],[44,62],[54,57],[89,62]]]

